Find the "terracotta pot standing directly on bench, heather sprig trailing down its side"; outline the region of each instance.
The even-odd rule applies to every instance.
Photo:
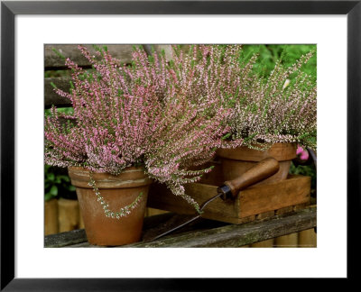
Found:
[[[132,204],[143,192],[139,204],[130,214],[120,219],[106,217],[93,187],[88,185],[90,178],[87,169],[69,167],[69,177],[72,185],[77,188],[80,211],[89,243],[115,246],[139,242],[148,189],[152,183],[152,180],[144,174],[143,168],[128,168],[118,176],[107,173],[92,174],[100,195],[104,197],[110,211],[118,212],[125,205]]]

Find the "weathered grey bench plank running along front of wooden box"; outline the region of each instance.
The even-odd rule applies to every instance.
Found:
[[[313,228],[316,226],[316,213],[316,208],[304,209],[292,215],[276,216],[264,222],[232,224],[185,235],[169,235],[156,242],[140,242],[122,247],[240,247]]]

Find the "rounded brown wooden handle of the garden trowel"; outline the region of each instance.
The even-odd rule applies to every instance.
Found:
[[[224,194],[221,196],[223,199],[236,197],[240,190],[273,176],[279,169],[278,161],[273,158],[259,161],[254,167],[245,171],[242,176],[225,181],[224,186],[218,187],[218,192]]]

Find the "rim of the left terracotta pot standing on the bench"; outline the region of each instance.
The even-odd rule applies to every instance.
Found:
[[[74,187],[93,188],[88,185],[90,171],[82,167],[69,167],[69,177]],[[152,184],[143,167],[129,167],[115,176],[106,172],[93,172],[92,178],[97,182],[98,188],[125,188],[142,187]]]

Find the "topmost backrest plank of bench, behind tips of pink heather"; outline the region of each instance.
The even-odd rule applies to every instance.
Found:
[[[96,50],[91,44],[85,45],[90,53],[95,54]],[[97,45],[99,47],[102,44]],[[130,63],[132,60],[133,45],[130,44],[109,44],[106,45],[107,50],[116,59],[120,59],[123,63]],[[60,69],[66,68],[65,60],[62,59],[53,49],[58,50],[62,56],[73,60],[80,67],[90,67],[88,59],[86,59],[78,49],[78,44],[47,44],[45,45],[45,68]]]

